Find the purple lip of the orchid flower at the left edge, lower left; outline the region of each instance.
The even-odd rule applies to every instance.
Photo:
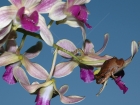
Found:
[[[3,74],[3,80],[5,80],[8,84],[15,84],[17,83],[14,75],[13,75],[13,68],[14,66],[12,65],[8,65],[8,66],[5,66],[5,73]]]

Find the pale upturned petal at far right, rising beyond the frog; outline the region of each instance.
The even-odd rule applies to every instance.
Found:
[[[125,60],[125,66],[127,66],[133,59],[133,57],[135,56],[135,54],[138,52],[138,44],[135,41],[132,41],[131,43],[131,56]]]

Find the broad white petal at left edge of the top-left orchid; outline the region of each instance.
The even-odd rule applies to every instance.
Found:
[[[12,22],[17,10],[13,6],[4,6],[0,8],[0,29],[6,27]]]

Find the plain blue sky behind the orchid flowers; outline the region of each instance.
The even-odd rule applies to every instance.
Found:
[[[93,27],[86,29],[87,39],[93,42],[95,51],[100,49],[103,44],[104,34],[109,33],[109,42],[105,51],[101,55],[111,55],[118,58],[127,59],[131,55],[131,42],[140,41],[140,1],[139,0],[91,0],[87,4],[90,12],[88,23]],[[1,2],[0,6],[10,5],[7,0]],[[47,17],[47,15],[44,15]],[[47,23],[49,19],[46,18]],[[51,27],[51,32],[55,42],[60,39],[69,39],[79,48],[82,47],[82,35],[79,28],[71,28],[67,25],[55,25]],[[22,35],[18,33],[17,40],[20,43]],[[34,45],[38,39],[27,37],[23,52]],[[53,58],[53,48],[43,43],[44,47],[41,54],[33,59],[48,71],[51,68]],[[128,92],[123,94],[113,80],[109,79],[105,90],[100,96],[96,93],[100,90],[101,85],[96,82],[84,83],[80,79],[79,67],[63,78],[56,79],[57,87],[60,88],[64,84],[69,85],[66,95],[86,96],[86,99],[75,105],[138,105],[140,104],[140,52],[138,52],[133,61],[124,69],[125,76],[123,81],[128,87]],[[58,56],[57,63],[66,61],[66,59]],[[4,73],[4,67],[1,67],[1,77]],[[31,82],[35,79],[30,78]],[[0,104],[1,105],[35,105],[35,95],[28,94],[19,84],[8,85],[0,79]],[[63,105],[59,96],[51,100],[51,105]]]

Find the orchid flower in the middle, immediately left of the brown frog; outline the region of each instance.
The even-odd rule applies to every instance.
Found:
[[[78,57],[80,60],[82,60],[85,64],[79,63],[76,59],[69,56],[68,54],[58,51],[58,53],[67,59],[70,59],[68,62],[62,62],[56,65],[53,76],[56,78],[64,77],[68,74],[70,74],[75,67],[79,65],[80,67],[80,77],[84,82],[92,82],[94,80],[93,75],[93,69],[94,67],[101,67],[103,62],[107,59],[112,58],[111,56],[105,55],[105,56],[99,56],[100,53],[102,53],[106,47],[107,41],[108,41],[108,34],[105,34],[105,41],[103,44],[103,47],[95,53],[94,51],[94,45],[89,41],[85,40],[83,49],[77,49],[76,46],[69,40],[63,39],[58,41],[56,44],[58,46],[61,46],[67,51],[75,53],[75,51],[79,50],[79,52],[75,53],[75,56]],[[102,61],[102,62],[98,62]],[[87,62],[87,63],[86,63]],[[91,63],[91,62],[97,62],[97,63]]]

